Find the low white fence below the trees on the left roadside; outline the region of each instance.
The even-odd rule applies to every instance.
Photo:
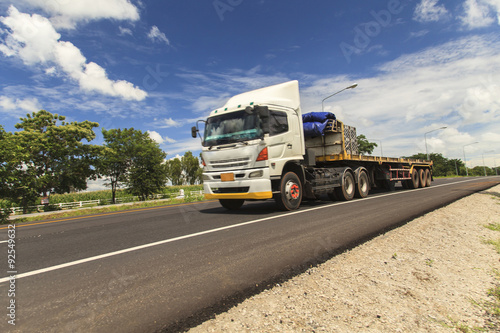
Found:
[[[203,190],[190,191],[190,192],[188,192],[187,195],[188,196],[203,195]],[[186,197],[186,195],[184,194],[184,190],[181,190],[178,193],[155,194],[153,196],[152,200],[163,199],[165,197],[167,197],[166,200],[169,200],[171,198],[183,199]],[[138,202],[139,197],[121,197],[121,198],[116,198],[115,201],[117,204],[127,203],[127,202]],[[97,199],[97,200],[87,200],[87,201],[61,202],[61,203],[57,203],[57,204],[52,204],[50,206],[59,207],[59,209],[76,209],[76,208],[83,208],[83,207],[111,205],[112,203],[113,203],[113,199]],[[30,211],[30,212],[43,212],[44,208],[45,208],[45,205],[30,206],[30,207],[28,207],[28,211]],[[23,213],[22,207],[12,207],[12,208],[10,208],[10,210],[12,211],[12,214],[14,214],[14,215]]]

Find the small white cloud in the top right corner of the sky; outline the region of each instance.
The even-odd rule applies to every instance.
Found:
[[[466,0],[464,3],[465,15],[460,17],[462,24],[469,29],[484,28],[495,22],[500,24],[499,0]]]

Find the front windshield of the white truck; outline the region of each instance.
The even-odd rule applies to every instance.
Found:
[[[242,110],[208,118],[203,145],[208,147],[255,140],[261,139],[263,135],[257,114]]]

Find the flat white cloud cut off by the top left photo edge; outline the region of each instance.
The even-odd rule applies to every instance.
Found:
[[[12,1],[2,1],[12,3]],[[16,0],[22,8],[38,8],[50,15],[57,28],[75,28],[79,22],[100,19],[139,19],[139,11],[130,0]]]

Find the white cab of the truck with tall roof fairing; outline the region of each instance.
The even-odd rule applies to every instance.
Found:
[[[194,127],[193,136],[197,132]],[[222,206],[237,209],[244,200],[276,197],[288,169],[298,173],[298,179],[288,185],[289,192],[301,199],[301,191],[297,192],[301,184],[296,182],[304,182],[298,164],[305,145],[298,82],[232,97],[205,121],[202,146],[207,199],[219,199]]]

